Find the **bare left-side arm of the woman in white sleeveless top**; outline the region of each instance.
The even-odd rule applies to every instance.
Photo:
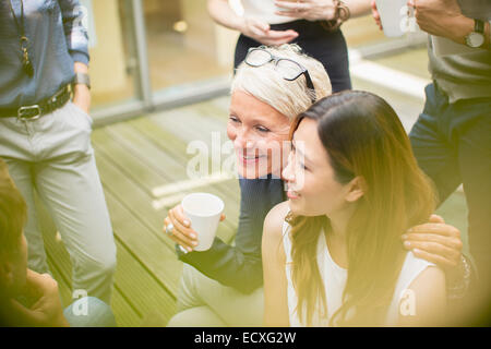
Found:
[[[288,285],[283,221],[288,202],[276,205],[266,216],[263,231],[264,326],[288,327]]]

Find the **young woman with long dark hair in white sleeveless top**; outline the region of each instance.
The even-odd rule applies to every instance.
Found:
[[[291,134],[289,201],[264,224],[266,325],[440,324],[445,275],[400,245],[435,196],[391,106],[336,94],[301,113]]]

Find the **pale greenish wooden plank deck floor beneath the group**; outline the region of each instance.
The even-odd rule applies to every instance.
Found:
[[[422,101],[378,91],[356,80],[354,85],[387,98],[400,111],[405,124],[412,123],[422,108]],[[177,183],[182,184],[189,178],[187,164],[194,156],[187,154],[191,141],[201,140],[211,145],[212,132],[218,132],[221,144],[227,140],[228,103],[229,97],[220,97],[99,128],[93,133],[118,248],[111,306],[119,326],[148,325],[148,318],[157,318],[159,325],[165,325],[175,313],[182,263],[176,257],[173,243],[161,232],[161,226],[167,209],[187,192],[203,190],[219,195],[226,204],[227,219],[219,225],[218,236],[227,242],[233,238],[239,214],[237,180],[172,191],[178,188]],[[163,185],[168,185],[165,194],[155,195],[154,190]],[[56,238],[51,220],[46,212],[43,214],[43,205],[38,206],[50,268],[59,281],[63,303],[68,305],[72,301],[70,258],[62,241]],[[466,205],[462,193],[455,193],[439,213],[466,233]],[[154,316],[156,314],[158,316]]]

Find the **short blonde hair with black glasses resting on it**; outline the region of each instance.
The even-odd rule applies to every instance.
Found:
[[[330,77],[318,60],[301,52],[295,44],[284,44],[279,47],[265,47],[271,53],[291,59],[308,71],[315,88],[315,100],[331,95]],[[264,101],[294,120],[299,113],[312,105],[312,93],[307,87],[306,76],[295,81],[287,81],[276,71],[273,63],[261,67],[250,67],[242,62],[236,71],[230,92],[240,89]]]

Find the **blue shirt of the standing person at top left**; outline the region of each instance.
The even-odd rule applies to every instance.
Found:
[[[88,64],[88,37],[79,0],[24,0],[24,27],[34,76],[23,70],[21,0],[0,1],[0,109],[33,105],[52,96],[74,76],[74,62]]]

